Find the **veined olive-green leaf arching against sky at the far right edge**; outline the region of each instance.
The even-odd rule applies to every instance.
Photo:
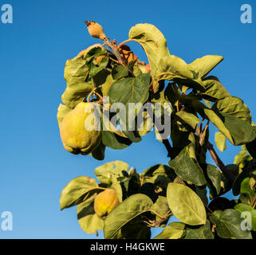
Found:
[[[214,110],[217,114],[226,113],[229,116],[237,117],[241,120],[251,122],[250,110],[243,103],[243,101],[236,96],[226,96],[223,99],[219,99],[212,106],[212,110]],[[226,116],[225,114],[225,116]]]

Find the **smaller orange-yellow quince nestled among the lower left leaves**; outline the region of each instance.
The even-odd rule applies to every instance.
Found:
[[[119,203],[116,190],[104,190],[94,200],[94,211],[99,218],[106,218]]]

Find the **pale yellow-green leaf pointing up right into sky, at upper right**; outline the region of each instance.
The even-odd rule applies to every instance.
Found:
[[[199,73],[199,77],[205,77],[216,65],[223,61],[222,56],[217,55],[207,55],[201,58],[197,58],[191,64],[189,64],[189,69]]]

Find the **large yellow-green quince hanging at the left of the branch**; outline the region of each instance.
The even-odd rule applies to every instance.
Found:
[[[61,121],[61,141],[73,154],[88,155],[100,144],[101,132],[93,128],[99,116],[96,110],[92,112],[92,105],[85,102],[77,104]]]

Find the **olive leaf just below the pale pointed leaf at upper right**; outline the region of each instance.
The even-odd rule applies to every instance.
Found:
[[[226,88],[221,84],[217,77],[207,77],[203,80],[203,85],[205,91],[201,93],[203,98],[207,98],[208,100],[223,99],[226,96],[230,96],[230,93],[226,90]],[[207,105],[207,107],[209,107]],[[210,107],[211,108],[211,107]]]

